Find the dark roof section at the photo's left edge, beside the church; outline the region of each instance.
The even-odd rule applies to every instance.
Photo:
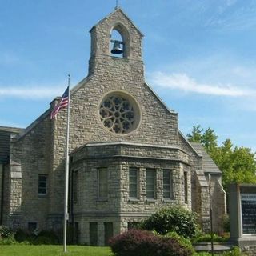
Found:
[[[10,135],[19,134],[23,129],[0,126],[0,163],[6,163],[10,154]]]

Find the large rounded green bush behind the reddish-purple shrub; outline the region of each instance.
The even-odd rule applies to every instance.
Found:
[[[159,234],[174,231],[184,238],[198,234],[197,215],[181,206],[162,208],[139,224],[145,230],[156,230]]]

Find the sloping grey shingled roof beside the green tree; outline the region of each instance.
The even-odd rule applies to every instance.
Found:
[[[198,154],[202,155],[202,170],[205,173],[210,174],[221,174],[221,170],[218,169],[214,160],[210,158],[210,155],[206,152],[201,143],[198,142],[190,142],[191,146],[194,147],[194,150],[198,152]]]

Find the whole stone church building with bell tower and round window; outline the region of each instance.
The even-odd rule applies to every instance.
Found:
[[[222,174],[146,84],[143,34],[120,8],[90,34],[88,75],[70,92],[69,222],[78,242],[104,245],[162,206],[196,211],[209,231],[208,174],[220,231]],[[0,126],[0,224],[62,228],[67,110],[50,120],[58,100],[26,129]]]

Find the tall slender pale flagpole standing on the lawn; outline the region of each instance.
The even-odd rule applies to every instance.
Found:
[[[64,202],[64,227],[63,227],[63,251],[66,253],[66,226],[69,219],[68,193],[69,193],[69,140],[70,140],[70,74],[68,75],[69,102],[67,106],[66,120],[66,164],[65,164],[65,202]]]

